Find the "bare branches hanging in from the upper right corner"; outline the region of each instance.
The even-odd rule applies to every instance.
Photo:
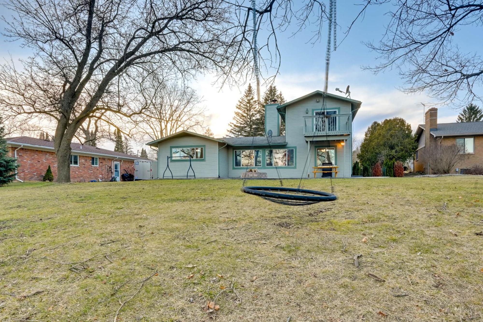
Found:
[[[482,100],[474,89],[483,84],[483,60],[477,52],[463,52],[457,37],[469,28],[476,37],[482,34],[483,1],[366,0],[361,13],[370,4],[391,4],[392,10],[383,38],[367,43],[381,63],[367,69],[379,73],[396,68],[408,93],[427,91],[461,105]]]

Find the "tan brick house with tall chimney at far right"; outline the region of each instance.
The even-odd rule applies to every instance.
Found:
[[[463,174],[475,165],[483,167],[483,122],[438,124],[438,109],[433,107],[426,111],[425,124],[418,126],[416,141],[418,147],[414,156],[415,172],[427,172],[425,149],[432,144],[462,146],[465,158],[456,164],[453,173]]]

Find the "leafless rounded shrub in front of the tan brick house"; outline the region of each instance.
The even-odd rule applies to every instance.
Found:
[[[440,144],[434,142],[425,147],[424,161],[435,174],[451,173],[455,166],[466,158],[464,149],[456,144]]]

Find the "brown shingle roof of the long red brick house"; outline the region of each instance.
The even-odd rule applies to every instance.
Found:
[[[43,139],[37,139],[34,137],[29,136],[16,136],[10,137],[5,139],[7,144],[16,145],[16,146],[24,146],[24,147],[39,147],[45,149],[54,149],[54,141],[48,141]],[[80,143],[71,143],[71,150],[72,152],[78,153],[86,153],[86,154],[95,154],[101,155],[106,157],[113,157],[113,158],[121,158],[121,159],[128,159],[128,160],[149,160],[146,158],[137,157],[132,154],[126,154],[121,152],[115,152],[111,150],[101,149],[95,146],[85,146]]]

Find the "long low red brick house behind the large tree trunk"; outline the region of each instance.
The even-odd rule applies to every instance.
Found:
[[[19,164],[17,180],[42,181],[49,165],[54,180],[57,179],[57,158],[53,141],[28,136],[6,138],[6,141],[11,156]],[[79,143],[71,143],[71,150],[71,181],[109,181],[111,176],[120,181],[124,170],[134,174],[134,161],[147,160]]]

